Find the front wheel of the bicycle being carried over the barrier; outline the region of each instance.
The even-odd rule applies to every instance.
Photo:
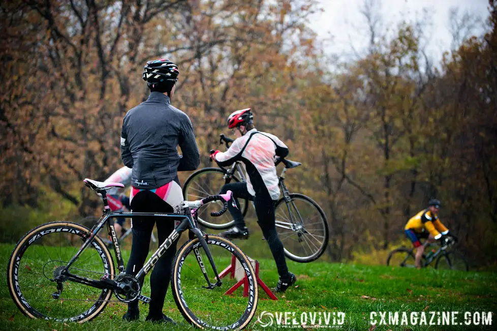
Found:
[[[225,173],[219,168],[204,168],[195,171],[187,178],[183,186],[183,198],[187,201],[194,201],[206,198],[210,195],[216,195],[221,192],[223,185],[230,183],[229,178],[224,178]],[[233,176],[235,182],[240,182],[240,179]],[[248,200],[238,199],[240,209],[243,216],[247,213]],[[210,212],[217,212],[223,208],[221,201],[209,203],[202,207],[198,215],[198,222],[203,226],[214,229],[224,230],[235,225],[235,221],[230,213],[225,213],[219,217],[211,217]]]

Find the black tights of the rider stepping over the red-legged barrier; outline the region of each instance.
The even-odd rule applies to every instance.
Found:
[[[235,220],[235,225],[242,229],[245,226],[245,222],[243,220],[243,216],[239,209],[240,204],[238,203],[238,199],[249,199],[252,200],[252,196],[248,193],[247,183],[230,183],[223,186],[221,189],[221,194],[226,193],[228,190],[233,192],[233,196],[235,197],[237,207],[234,207],[231,203],[228,204],[229,210],[233,219]],[[256,194],[254,198],[254,206],[256,207],[257,214],[257,223],[261,227],[262,233],[267,240],[267,244],[269,245],[269,249],[274,258],[274,262],[276,262],[276,268],[278,269],[278,275],[282,278],[286,278],[288,276],[288,267],[287,261],[285,259],[285,251],[283,247],[283,243],[278,237],[278,233],[276,232],[276,221],[274,219],[274,204],[275,201],[271,199],[271,196],[267,192],[260,192]]]

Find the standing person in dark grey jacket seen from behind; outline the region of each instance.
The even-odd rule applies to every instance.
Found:
[[[183,195],[177,172],[195,170],[200,164],[190,118],[170,104],[178,74],[178,67],[168,59],[148,61],[142,78],[147,82],[150,95],[146,101],[129,110],[123,119],[121,158],[127,167],[133,169],[130,194],[133,212],[180,212]],[[178,145],[182,155],[177,152]],[[145,263],[154,224],[157,225],[159,242],[163,243],[173,231],[174,222],[156,222],[156,219],[146,217],[132,218],[133,244],[126,273],[136,275]],[[150,276],[147,321],[174,323],[162,313],[162,309],[176,243],[159,259]],[[122,318],[139,318],[138,300],[128,304],[128,311]]]

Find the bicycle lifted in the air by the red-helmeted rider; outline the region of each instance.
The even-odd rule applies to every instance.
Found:
[[[234,141],[222,134],[220,144],[229,148]],[[211,151],[213,153],[213,151]],[[276,230],[285,247],[285,255],[296,262],[311,262],[323,255],[328,246],[328,221],[321,207],[311,198],[290,193],[285,185],[285,172],[301,165],[300,162],[278,158],[276,165],[282,162],[285,167],[279,176],[279,188],[283,197],[275,205]],[[217,194],[221,187],[235,180],[245,181],[245,174],[241,162],[235,162],[229,169],[218,164],[219,168],[207,167],[192,173],[183,186],[185,199],[204,198]],[[248,209],[246,199],[238,199],[243,216]],[[203,210],[198,222],[203,226],[222,230],[234,225],[229,213],[224,217],[209,219],[208,210]]]

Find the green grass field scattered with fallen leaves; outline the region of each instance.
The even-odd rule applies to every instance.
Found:
[[[262,243],[261,243],[262,245]],[[96,319],[82,325],[56,323],[45,320],[28,319],[14,305],[7,288],[6,267],[13,245],[0,245],[0,261],[3,277],[0,287],[0,329],[2,330],[146,330],[194,329],[188,324],[177,327],[144,322],[148,311],[140,304],[141,322],[123,322],[121,316],[126,306],[110,303]],[[124,252],[127,259],[129,252]],[[263,329],[257,322],[263,311],[295,312],[300,317],[304,312],[345,313],[345,322],[338,329],[368,330],[370,312],[444,312],[457,311],[458,322],[462,322],[463,312],[497,312],[497,278],[495,273],[451,272],[434,269],[403,269],[387,266],[361,266],[335,263],[313,262],[298,264],[289,262],[289,268],[297,275],[295,287],[285,295],[278,295],[278,301],[269,300],[259,288],[260,299],[254,319],[248,329]],[[261,278],[273,287],[277,273],[272,260],[261,260]],[[240,289],[238,290],[240,291]],[[149,293],[148,278],[143,292]],[[241,295],[241,292],[238,292]],[[208,308],[208,305],[206,305]],[[170,292],[166,297],[164,312],[179,323],[184,320],[178,312]],[[223,309],[212,314],[223,314]],[[332,315],[333,316],[333,315]],[[430,315],[427,314],[428,322]],[[492,324],[497,325],[497,316],[491,315]],[[267,319],[263,318],[265,322]],[[380,315],[378,315],[380,321]],[[434,319],[437,321],[437,318]],[[401,315],[399,316],[399,323]],[[387,317],[388,323],[388,317]],[[419,323],[419,321],[418,321]],[[302,329],[302,326],[298,328]],[[266,327],[265,329],[278,329]],[[280,327],[279,329],[287,329]],[[495,329],[495,326],[475,325],[377,325],[376,330],[467,330]]]

